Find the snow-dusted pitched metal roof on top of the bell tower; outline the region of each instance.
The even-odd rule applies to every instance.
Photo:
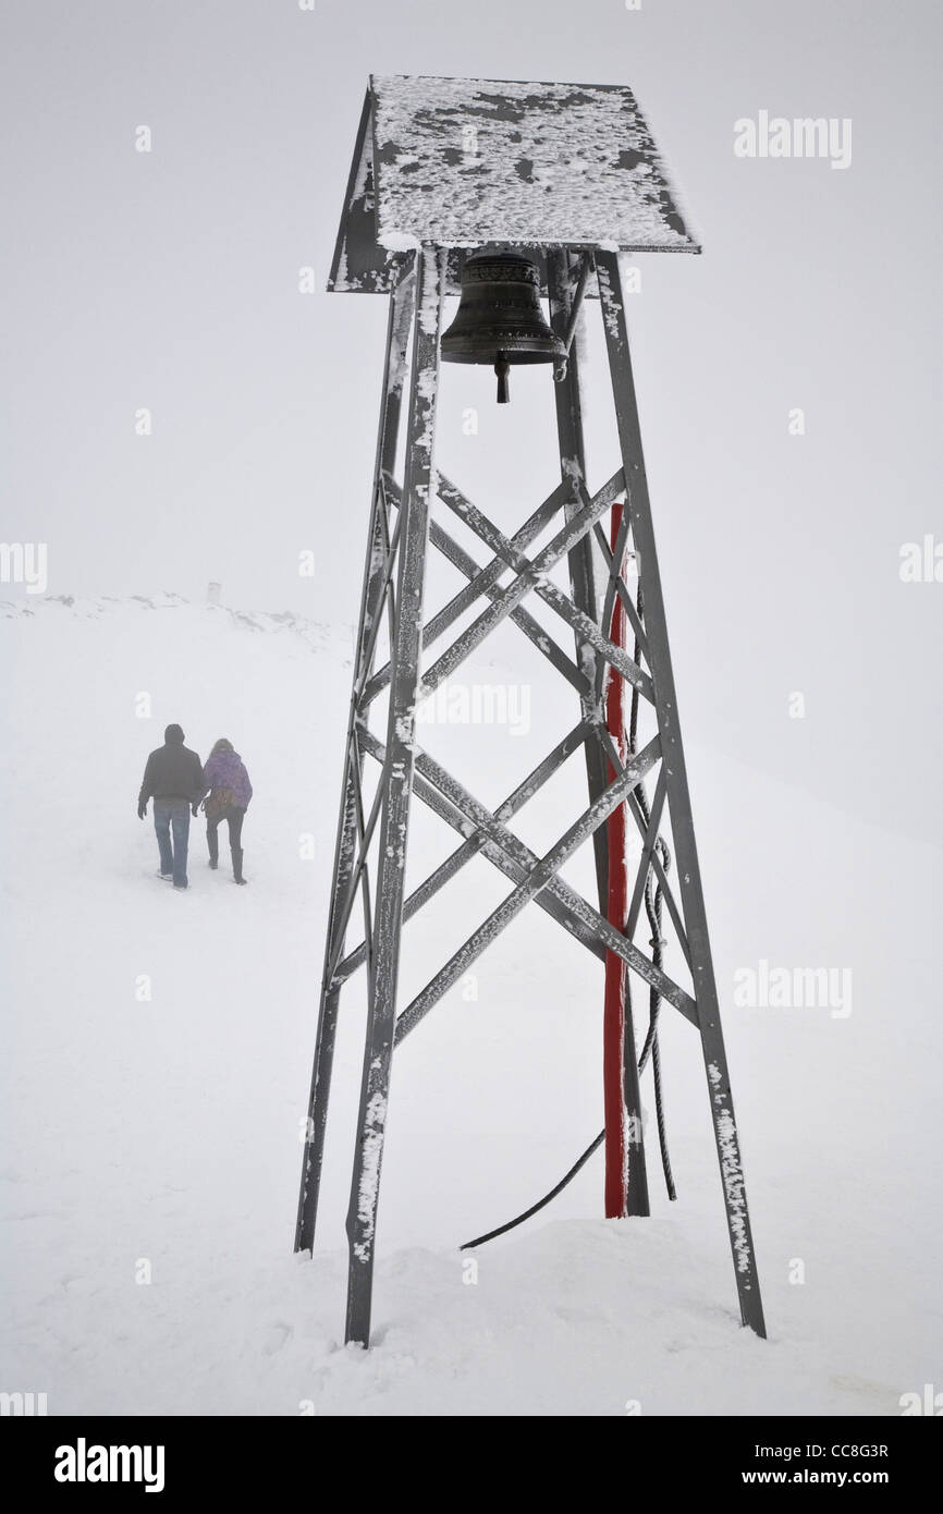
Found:
[[[469,247],[699,253],[625,85],[372,74],[328,289],[386,294],[397,253]]]

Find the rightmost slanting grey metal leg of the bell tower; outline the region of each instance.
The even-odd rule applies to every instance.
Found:
[[[678,725],[678,704],[675,698],[671,651],[668,645],[664,600],[661,597],[661,580],[658,575],[658,559],[655,554],[648,481],[645,477],[642,431],[639,425],[636,386],[628,350],[625,294],[619,277],[618,254],[596,253],[596,266],[599,276],[599,298],[602,301],[613,397],[616,403],[616,424],[619,428],[619,445],[625,469],[628,510],[631,516],[633,539],[640,557],[639,580],[645,604],[645,636],[648,640],[649,671],[655,690],[655,709],[663,749],[663,772],[666,775],[668,805],[671,810],[675,858],[678,864],[678,887],[690,949],[690,966],[695,986],[693,993],[698,1005],[698,1026],[701,1031],[701,1046],[707,1070],[714,1139],[720,1163],[727,1225],[734,1260],[737,1293],[740,1297],[740,1316],[743,1323],[749,1325],[757,1335],[766,1335],[763,1302],[760,1299],[760,1279],[757,1275],[752,1234],[749,1228],[749,1211],[746,1207],[740,1143],[730,1090],[730,1075],[727,1070],[724,1033],[720,1030],[717,986],[714,981],[710,937],[707,931],[707,913],[704,908],[704,892],[701,887],[701,871],[698,866],[698,848],[695,843],[687,771],[684,766],[684,748]]]

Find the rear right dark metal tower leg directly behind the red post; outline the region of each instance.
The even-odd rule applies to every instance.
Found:
[[[559,336],[566,333],[572,301],[574,301],[574,283],[572,283],[572,266],[571,254],[565,250],[551,251],[546,256],[546,276],[549,285],[549,315],[551,326]],[[580,316],[583,319],[583,316]],[[583,403],[580,395],[580,360],[577,353],[577,344],[574,342],[571,348],[569,362],[566,365],[566,377],[554,385],[554,397],[557,401],[557,436],[560,444],[560,474],[563,480],[571,483],[572,500],[566,506],[568,518],[574,515],[583,501],[586,500],[586,445],[583,441]],[[583,492],[583,498],[580,497]],[[584,536],[581,542],[569,554],[569,581],[571,595],[574,604],[583,610],[589,618],[599,624],[599,597],[596,592],[595,580],[595,565],[592,553],[592,536]],[[608,636],[612,631],[610,625],[602,625],[601,630]],[[580,666],[590,672],[590,683],[593,689],[598,686],[596,678],[596,657],[598,654],[586,642],[581,642],[577,636],[577,662]],[[602,715],[596,704],[593,693],[581,699],[583,718],[601,724]],[[589,784],[589,798],[596,799],[610,783],[608,765],[605,760],[605,752],[601,742],[586,742],[586,777]],[[615,775],[613,775],[615,777]],[[593,836],[595,848],[595,863],[596,863],[596,889],[599,893],[599,913],[608,916],[608,901],[610,901],[610,858],[608,858],[608,836],[610,827],[601,825]],[[607,974],[619,972],[621,964],[607,963]],[[624,1078],[624,1102],[625,1102],[625,1131],[628,1136],[627,1157],[625,1157],[625,1214],[640,1214],[646,1216],[651,1213],[648,1199],[648,1178],[645,1172],[645,1143],[642,1139],[642,1096],[639,1089],[639,1072],[636,1066],[636,1037],[633,1026],[633,1010],[631,1010],[631,987],[628,984],[628,977],[625,972],[621,974],[622,978],[622,1025],[624,1025],[624,1045],[625,1045],[625,1078]],[[610,1117],[607,1117],[607,1126],[612,1125]],[[612,1204],[607,1199],[607,1213]]]

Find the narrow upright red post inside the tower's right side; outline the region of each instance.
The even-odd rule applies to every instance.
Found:
[[[622,504],[612,509],[610,542],[615,550]],[[625,646],[625,610],[616,595],[610,639]],[[605,728],[622,762],[627,757],[625,683],[622,674],[608,668],[605,683]],[[608,781],[616,774],[608,765]],[[608,922],[625,930],[628,911],[628,863],[625,857],[627,807],[619,804],[610,815],[608,828]],[[605,954],[605,1004],[602,1011],[602,1105],[605,1110],[605,1217],[625,1216],[627,1143],[625,1143],[625,963],[615,951]]]

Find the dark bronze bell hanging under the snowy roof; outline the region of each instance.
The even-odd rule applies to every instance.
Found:
[[[566,347],[540,309],[540,276],[522,253],[474,253],[462,269],[462,300],[442,336],[447,363],[493,363],[498,404],[507,404],[512,363],[554,363],[566,371]]]

